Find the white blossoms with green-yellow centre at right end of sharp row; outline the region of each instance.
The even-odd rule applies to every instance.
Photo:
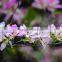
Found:
[[[59,29],[56,29],[56,27],[54,25],[51,25],[50,29],[52,28],[51,32],[50,32],[50,37],[51,37],[51,41],[53,44],[56,43],[61,43],[62,42],[62,27],[60,26]]]

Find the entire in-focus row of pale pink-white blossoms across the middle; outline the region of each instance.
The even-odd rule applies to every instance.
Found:
[[[12,47],[12,39],[16,36],[22,38],[25,36],[30,43],[34,43],[36,39],[41,41],[42,45],[44,46],[45,43],[51,43],[53,39],[51,33],[55,35],[55,37],[60,41],[62,39],[62,26],[58,29],[54,26],[54,24],[49,25],[47,29],[41,30],[40,27],[33,27],[32,29],[28,29],[24,24],[20,27],[17,27],[16,24],[10,25],[8,24],[5,27],[5,23],[0,23],[0,50],[3,50],[6,45],[9,43]],[[24,41],[27,41],[26,39]]]

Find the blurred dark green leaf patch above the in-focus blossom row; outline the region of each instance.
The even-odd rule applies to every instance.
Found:
[[[32,20],[36,17],[36,11],[33,8],[28,8],[27,14],[24,18],[26,26],[30,26]]]

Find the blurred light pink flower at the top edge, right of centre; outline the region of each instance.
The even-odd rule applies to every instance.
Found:
[[[52,10],[56,8],[56,5],[58,5],[58,3],[59,0],[35,0],[32,6],[40,9],[48,8]]]

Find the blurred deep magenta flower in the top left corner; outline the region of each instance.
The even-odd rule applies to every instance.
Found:
[[[0,8],[0,12],[6,14],[6,17],[4,19],[6,21],[11,17],[11,15],[13,15],[15,10],[17,9],[18,3],[16,0],[1,0],[1,3],[2,8]]]

